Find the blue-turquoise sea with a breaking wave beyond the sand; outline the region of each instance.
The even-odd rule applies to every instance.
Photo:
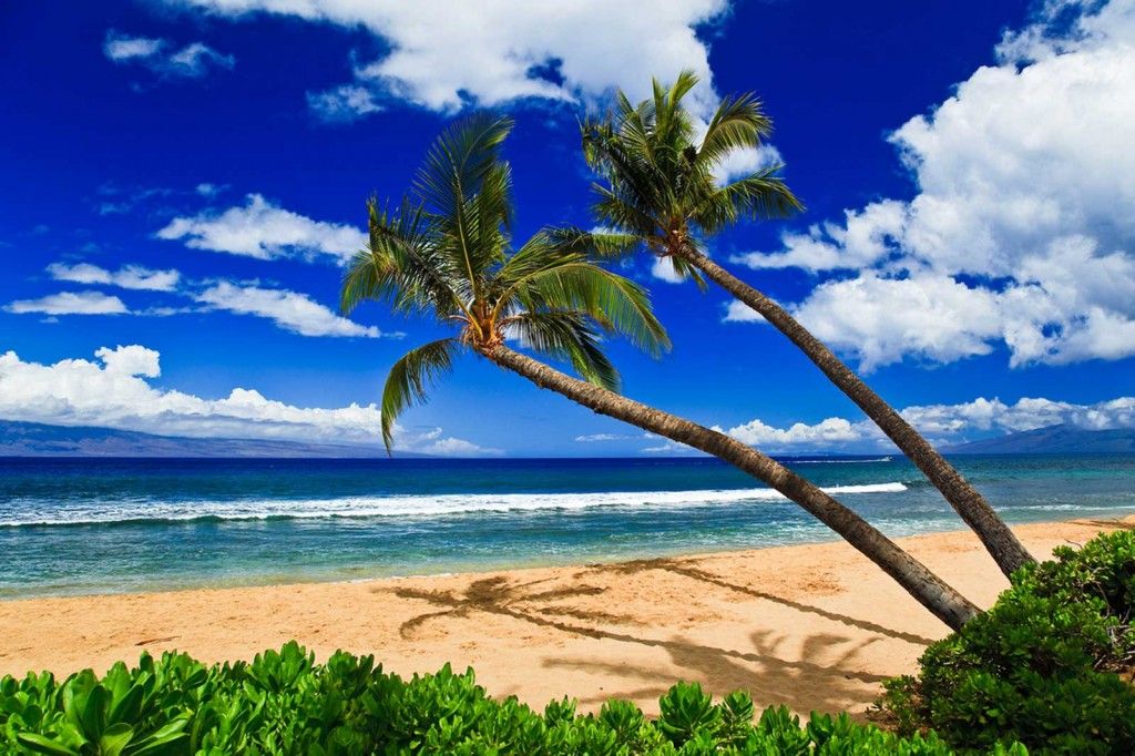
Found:
[[[961,526],[903,457],[789,460],[891,536]],[[1135,512],[1135,456],[974,456],[1010,522]],[[0,598],[581,563],[832,539],[706,459],[0,460]]]

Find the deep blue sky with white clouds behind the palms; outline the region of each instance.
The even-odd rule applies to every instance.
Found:
[[[334,311],[365,199],[494,108],[518,236],[588,225],[578,115],[693,68],[698,102],[759,94],[808,208],[713,255],[931,437],[1135,425],[1132,2],[653,6],[5,3],[0,418],[376,438],[386,369],[436,330]],[[674,350],[613,344],[625,393],[768,451],[885,448],[724,294],[629,274]],[[401,427],[439,454],[675,451],[473,358]]]

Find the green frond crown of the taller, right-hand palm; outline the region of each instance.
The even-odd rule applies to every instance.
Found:
[[[781,218],[802,205],[781,179],[781,165],[718,183],[730,153],[759,146],[772,121],[753,94],[728,98],[697,141],[698,123],[682,107],[697,83],[691,72],[669,90],[655,79],[653,98],[638,106],[619,92],[614,112],[588,118],[581,132],[583,156],[605,182],[594,186],[595,213],[620,235],[609,235],[606,247],[625,253],[645,242],[679,275],[704,286],[683,250],[699,250],[703,236],[742,217]]]

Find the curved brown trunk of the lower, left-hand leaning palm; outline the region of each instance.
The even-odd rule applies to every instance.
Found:
[[[725,434],[566,376],[507,346],[488,346],[482,353],[496,364],[523,376],[540,388],[562,394],[600,414],[713,454],[763,480],[842,536],[951,629],[958,630],[978,613],[977,607],[965,596],[866,520],[760,452]]]

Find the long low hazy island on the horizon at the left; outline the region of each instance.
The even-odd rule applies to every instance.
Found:
[[[377,440],[377,439],[376,439]],[[0,456],[385,457],[379,445],[260,438],[190,438],[85,426],[0,420]],[[398,456],[422,456],[398,452]]]

